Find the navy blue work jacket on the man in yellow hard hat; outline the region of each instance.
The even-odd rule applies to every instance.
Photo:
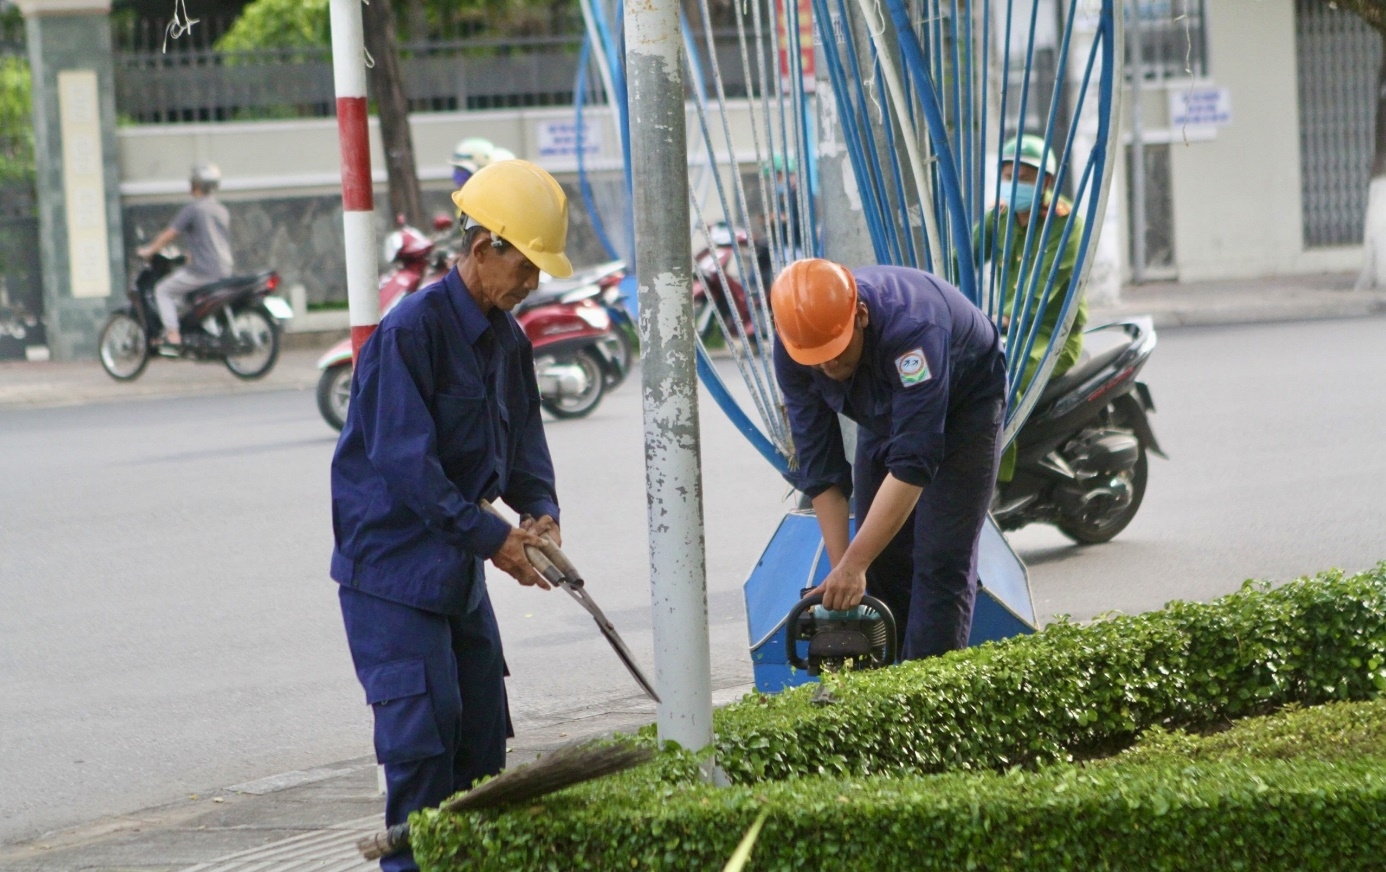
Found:
[[[388,600],[464,614],[510,525],[480,499],[559,520],[534,349],[482,315],[457,270],[405,298],[362,347],[333,456],[331,575]]]

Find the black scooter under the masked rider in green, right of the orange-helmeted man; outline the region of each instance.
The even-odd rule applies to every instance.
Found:
[[[997,487],[1002,530],[1056,525],[1081,543],[1125,530],[1145,496],[1148,457],[1164,457],[1146,417],[1150,390],[1137,376],[1155,351],[1149,317],[1088,330],[1082,358],[1053,378],[1016,437],[1015,477]]]

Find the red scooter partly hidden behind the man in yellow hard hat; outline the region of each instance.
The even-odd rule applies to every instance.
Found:
[[[398,263],[380,281],[380,313],[385,316],[407,294],[441,280],[450,259],[434,254],[435,243],[413,227],[391,234],[387,252]],[[600,274],[599,274],[600,273]],[[554,417],[582,417],[602,402],[629,372],[624,331],[603,305],[610,276],[597,270],[549,280],[520,304],[514,316],[534,345],[539,403]],[[346,423],[351,402],[351,340],[342,340],[319,360],[317,410],[333,428]]]

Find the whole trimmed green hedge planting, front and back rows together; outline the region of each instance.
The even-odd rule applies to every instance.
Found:
[[[1365,869],[1386,857],[1386,564],[1044,632],[717,713],[532,805],[413,818],[426,869]],[[1315,708],[1301,708],[1315,706]],[[1253,717],[1279,711],[1274,717]],[[1139,739],[1139,742],[1138,742]],[[650,740],[646,738],[646,740]]]

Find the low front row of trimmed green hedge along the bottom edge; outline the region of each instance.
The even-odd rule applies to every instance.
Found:
[[[459,872],[721,869],[768,811],[751,869],[1346,871],[1386,858],[1380,701],[1159,733],[1100,764],[1038,772],[718,789],[687,756],[658,769],[507,814],[416,815],[414,855]]]

